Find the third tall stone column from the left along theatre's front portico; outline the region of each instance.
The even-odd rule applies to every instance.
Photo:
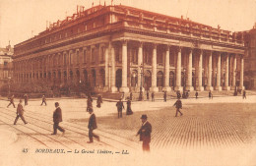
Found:
[[[153,55],[152,55],[152,87],[151,91],[158,92],[159,87],[157,87],[157,44],[153,45]]]

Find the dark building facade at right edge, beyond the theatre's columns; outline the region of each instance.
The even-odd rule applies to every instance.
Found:
[[[244,31],[244,43],[248,48],[244,57],[244,85],[256,89],[256,23],[252,29]]]

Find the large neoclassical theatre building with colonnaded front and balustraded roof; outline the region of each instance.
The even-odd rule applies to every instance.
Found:
[[[243,34],[123,5],[98,5],[14,47],[16,83],[97,91],[243,88]]]

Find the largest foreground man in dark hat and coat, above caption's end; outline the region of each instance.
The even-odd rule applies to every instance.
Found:
[[[142,141],[142,149],[143,151],[150,151],[150,142],[151,142],[151,133],[152,133],[152,126],[147,121],[147,115],[142,115],[142,127],[138,131],[137,135],[140,135],[140,141]]]

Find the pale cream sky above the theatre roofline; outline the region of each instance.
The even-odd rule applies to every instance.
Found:
[[[104,0],[0,0],[0,47],[14,46],[45,30],[46,21],[64,20],[77,11],[104,4]],[[111,0],[105,0],[106,5]],[[253,28],[256,0],[113,0],[126,5],[230,31]]]

